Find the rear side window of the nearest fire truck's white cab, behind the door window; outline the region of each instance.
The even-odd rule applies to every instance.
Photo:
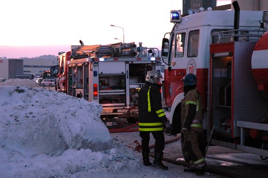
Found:
[[[187,57],[196,57],[198,55],[199,30],[189,33]]]

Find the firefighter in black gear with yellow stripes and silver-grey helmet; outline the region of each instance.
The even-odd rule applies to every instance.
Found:
[[[155,139],[153,165],[167,170],[168,167],[162,163],[163,150],[165,148],[164,127],[170,129],[162,108],[162,97],[160,93],[161,84],[158,84],[162,75],[157,71],[149,71],[145,79],[145,85],[139,91],[139,131],[142,138],[143,165],[150,166],[149,140],[150,133]]]

